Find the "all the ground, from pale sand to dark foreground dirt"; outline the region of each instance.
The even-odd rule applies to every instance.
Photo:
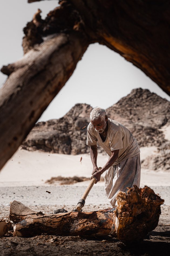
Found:
[[[156,153],[155,147],[141,148],[141,160]],[[80,163],[80,157],[83,157]],[[98,155],[98,166],[107,158]],[[73,210],[89,181],[73,185],[49,185],[47,179],[56,176],[91,176],[90,155],[49,154],[19,149],[0,172],[0,217],[9,214],[9,205],[17,200],[33,210],[52,213],[64,208]],[[141,171],[141,184],[159,193],[165,200],[157,228],[150,232],[142,245],[127,247],[111,236],[104,238],[80,238],[58,236],[36,236],[34,238],[13,237],[8,233],[0,239],[0,255],[170,255],[170,174],[153,170]],[[47,193],[50,191],[51,193]],[[86,199],[84,211],[110,208],[104,192],[104,183],[98,182]],[[54,238],[54,242],[49,242]],[[23,246],[24,244],[24,246]]]

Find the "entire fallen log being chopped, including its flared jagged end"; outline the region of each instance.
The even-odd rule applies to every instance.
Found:
[[[14,236],[55,235],[101,236],[113,235],[124,243],[140,241],[155,229],[164,202],[145,186],[130,188],[117,195],[117,208],[94,212],[58,213],[46,215],[13,201],[9,218],[15,223]]]

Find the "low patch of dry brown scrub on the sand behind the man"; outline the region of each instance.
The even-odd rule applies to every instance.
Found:
[[[78,176],[73,176],[73,177],[62,177],[62,176],[57,176],[57,177],[52,177],[49,180],[46,180],[45,183],[48,184],[54,184],[56,182],[60,182],[60,185],[70,185],[70,184],[74,184],[77,182],[83,182],[86,180],[91,180],[90,178],[86,178],[86,177],[78,177]],[[100,181],[103,182],[104,178],[101,177]]]

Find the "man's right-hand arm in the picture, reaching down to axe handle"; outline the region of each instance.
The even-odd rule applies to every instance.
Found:
[[[96,150],[97,150],[97,148],[96,148]],[[119,155],[119,149],[118,150],[112,150],[111,151],[111,157],[109,158],[107,163],[103,166],[103,168],[101,168],[101,170],[98,170],[97,172],[92,174],[91,178],[95,178],[96,179],[95,183],[100,181],[101,174],[104,173],[104,171],[106,171],[110,166],[112,166],[114,164],[114,162],[116,161],[118,155]],[[90,156],[91,156],[91,154],[90,154]],[[96,161],[97,161],[97,157],[96,157]]]

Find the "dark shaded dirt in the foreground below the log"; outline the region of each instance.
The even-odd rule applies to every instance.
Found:
[[[33,208],[32,206],[29,206]],[[35,208],[35,207],[34,207]],[[53,209],[46,208],[49,213]],[[13,237],[8,232],[0,239],[0,255],[17,256],[69,256],[69,255],[107,255],[107,256],[169,256],[170,250],[170,206],[161,207],[162,214],[157,228],[149,232],[142,244],[127,247],[111,236],[80,237],[39,235],[30,238]],[[6,212],[7,214],[7,212]]]

